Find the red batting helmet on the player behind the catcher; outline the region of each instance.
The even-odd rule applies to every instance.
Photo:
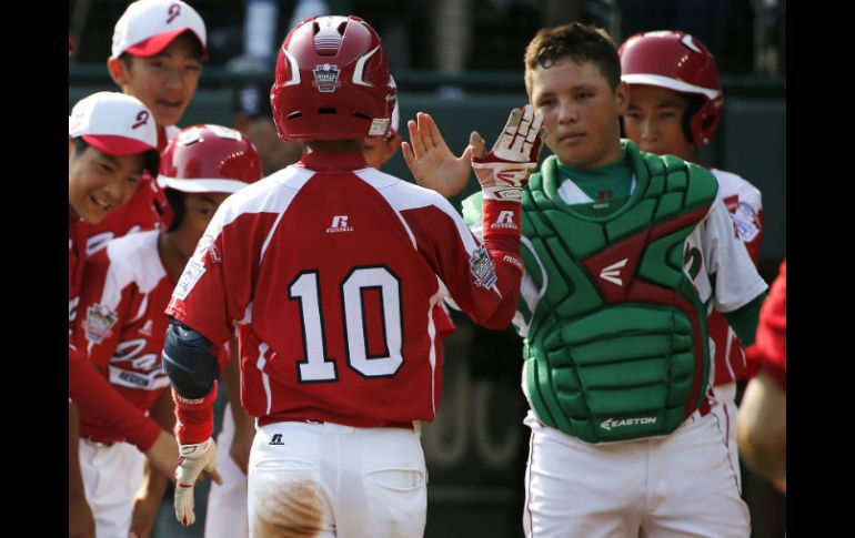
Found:
[[[700,97],[703,102],[684,119],[686,138],[702,148],[710,143],[722,120],[724,94],[713,54],[704,43],[678,31],[631,35],[617,51],[621,80],[627,84],[667,88]]]

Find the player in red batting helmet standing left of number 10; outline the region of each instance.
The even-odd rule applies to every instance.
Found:
[[[175,215],[169,231],[113,240],[87,261],[78,345],[139,415],[148,412],[148,420],[168,432],[174,410],[171,393],[163,390],[169,386],[160,361],[168,324],[163,311],[217,207],[260,177],[261,160],[238,131],[187,128],[167,146],[158,177]],[[168,475],[152,473],[122,434],[86,413],[80,430],[80,466],[98,536],[128,536],[129,530],[148,536]]]

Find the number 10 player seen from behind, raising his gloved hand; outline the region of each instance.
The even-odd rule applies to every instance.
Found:
[[[419,425],[440,404],[437,277],[477,323],[510,322],[540,116],[515,110],[504,159],[483,152],[480,243],[442,196],[365,166],[362,139],[386,135],[395,93],[380,38],[359,18],[308,19],[280,49],[274,121],[306,153],[220,207],[167,309],[184,525],[193,484],[215,469],[211,346],[238,327],[241,399],[258,420],[250,536],[424,531]]]

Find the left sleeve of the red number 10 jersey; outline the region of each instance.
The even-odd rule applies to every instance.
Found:
[[[214,214],[167,306],[167,314],[225,344],[249,316],[253,275],[275,213],[239,213],[229,201]]]

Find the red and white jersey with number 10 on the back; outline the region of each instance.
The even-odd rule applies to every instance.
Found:
[[[167,313],[214,344],[239,327],[242,403],[262,425],[430,422],[441,282],[476,323],[514,314],[520,204],[485,202],[496,216],[516,224],[481,245],[440,194],[358,152],[309,153],[223,202]]]

